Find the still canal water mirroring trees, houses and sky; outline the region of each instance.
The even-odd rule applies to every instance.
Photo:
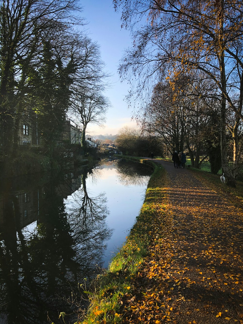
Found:
[[[0,324],[58,323],[61,311],[75,312],[84,303],[78,283],[125,241],[151,173],[121,160],[1,181]]]

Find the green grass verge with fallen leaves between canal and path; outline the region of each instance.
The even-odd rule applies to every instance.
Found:
[[[155,170],[149,180],[140,214],[136,217],[131,233],[120,252],[111,261],[108,270],[93,282],[92,293],[87,292],[90,295],[90,305],[87,314],[77,323],[123,323],[124,313],[127,310],[124,309],[123,300],[131,295],[134,278],[139,276],[139,270],[150,253],[148,245],[152,240],[154,220],[158,219],[160,214],[165,214],[163,188],[167,182],[166,171],[151,161],[145,163],[148,162]]]

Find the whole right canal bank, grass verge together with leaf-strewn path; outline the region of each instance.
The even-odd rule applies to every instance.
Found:
[[[242,323],[242,199],[232,203],[213,175],[156,163],[137,223],[80,322]]]

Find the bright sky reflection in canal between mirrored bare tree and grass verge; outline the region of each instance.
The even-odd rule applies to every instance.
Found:
[[[145,164],[124,159],[109,159],[100,168],[99,181],[94,184],[92,179],[88,178],[87,183],[94,196],[103,190],[108,198],[110,214],[107,216],[107,222],[113,228],[112,236],[106,242],[104,255],[104,267],[108,267],[110,259],[118,252],[133,227],[144,201],[152,169]]]

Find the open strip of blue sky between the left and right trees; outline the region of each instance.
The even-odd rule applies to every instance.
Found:
[[[121,29],[120,14],[114,11],[112,0],[80,0],[79,3],[83,6],[82,16],[88,22],[89,37],[100,45],[101,59],[106,64],[105,71],[113,75],[110,77],[113,85],[105,92],[112,105],[106,115],[105,128],[90,124],[87,133],[115,135],[124,125],[136,127],[131,121],[132,111],[127,109],[123,100],[129,86],[120,82],[117,72],[124,49],[132,43],[130,33]]]

